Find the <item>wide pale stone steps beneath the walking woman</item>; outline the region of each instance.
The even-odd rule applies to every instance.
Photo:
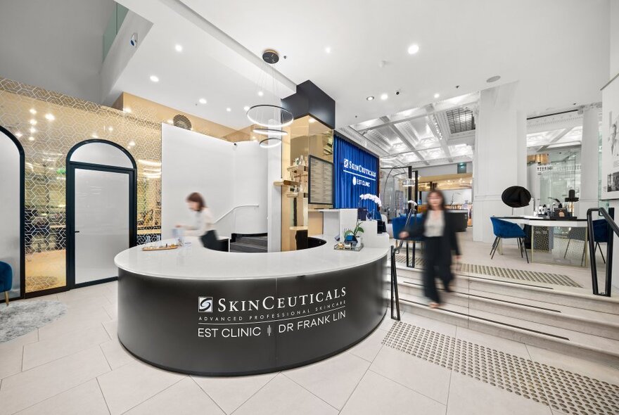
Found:
[[[397,280],[404,312],[619,368],[618,298],[552,284],[457,275],[453,292],[441,288],[443,304],[430,309],[421,269],[397,264]]]

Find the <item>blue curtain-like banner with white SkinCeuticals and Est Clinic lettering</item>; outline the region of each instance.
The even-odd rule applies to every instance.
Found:
[[[333,208],[359,207],[359,196],[378,196],[378,158],[338,136],[333,137],[333,167],[335,169],[336,200]],[[376,203],[363,200],[363,208],[376,210]]]

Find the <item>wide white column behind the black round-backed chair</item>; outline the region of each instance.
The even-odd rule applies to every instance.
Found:
[[[526,117],[518,82],[480,92],[473,158],[473,241],[492,242],[492,216],[512,214],[501,195],[526,186]],[[528,212],[513,210],[514,214]]]

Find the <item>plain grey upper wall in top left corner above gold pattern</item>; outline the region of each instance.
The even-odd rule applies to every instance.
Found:
[[[101,102],[111,0],[1,1],[0,76]]]

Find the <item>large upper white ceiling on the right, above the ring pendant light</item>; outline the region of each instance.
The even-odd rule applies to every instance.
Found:
[[[601,101],[608,81],[608,0],[182,1],[256,56],[286,55],[276,69],[331,95],[338,127],[485,89],[493,75],[521,81],[529,115]]]

